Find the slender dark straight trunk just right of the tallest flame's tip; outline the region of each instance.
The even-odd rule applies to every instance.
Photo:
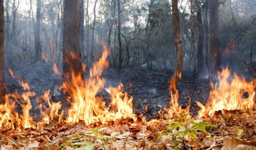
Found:
[[[122,57],[122,41],[121,41],[121,8],[120,8],[120,0],[117,0],[117,10],[118,10],[118,43],[119,43],[119,61],[117,66],[117,75],[120,76],[122,63],[123,63],[123,57]]]

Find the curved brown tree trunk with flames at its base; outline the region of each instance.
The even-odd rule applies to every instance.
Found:
[[[177,63],[176,63],[174,74],[171,79],[171,87],[170,87],[171,89],[176,87],[179,83],[180,75],[182,73],[183,58],[184,58],[184,50],[183,50],[182,40],[180,35],[178,0],[172,0],[172,14],[173,14],[175,46],[177,51]]]

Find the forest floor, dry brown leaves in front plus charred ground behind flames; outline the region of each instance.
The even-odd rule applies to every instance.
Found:
[[[41,96],[51,89],[52,101],[61,100],[62,109],[67,112],[70,104],[60,97],[57,85],[61,76],[55,75],[50,63],[20,64],[15,68],[15,79],[6,71],[7,93],[24,92],[17,81],[20,76],[30,85],[30,91]],[[6,69],[8,70],[8,69]],[[43,128],[25,128],[21,131],[9,128],[0,129],[0,149],[58,149],[58,150],[226,150],[256,149],[256,112],[248,110],[216,111],[213,116],[197,117],[199,107],[195,103],[205,104],[208,100],[210,85],[207,79],[194,79],[193,74],[183,72],[178,85],[179,104],[185,108],[189,105],[189,115],[160,118],[158,111],[169,107],[169,79],[173,71],[144,70],[128,68],[121,71],[120,78],[114,69],[106,69],[102,78],[106,79],[105,87],[124,85],[124,91],[133,96],[133,108],[137,115],[135,120],[120,119],[105,124],[85,125],[81,123],[51,122]],[[130,86],[132,84],[132,86]],[[106,105],[110,96],[105,89],[102,95]],[[32,109],[30,115],[37,121],[42,118],[35,98],[30,97]],[[22,112],[17,104],[16,111]],[[147,108],[147,111],[145,107]],[[139,114],[143,114],[146,120]],[[157,119],[156,119],[157,118]],[[153,120],[151,120],[153,119]],[[15,120],[9,120],[15,126]],[[9,122],[9,123],[10,123]],[[17,122],[17,121],[16,121]]]

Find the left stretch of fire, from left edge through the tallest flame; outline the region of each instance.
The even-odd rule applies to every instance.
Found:
[[[122,118],[136,120],[136,115],[133,113],[132,108],[133,98],[128,96],[127,92],[122,92],[122,83],[118,87],[106,88],[106,91],[111,96],[111,103],[109,104],[111,110],[110,107],[105,105],[103,98],[97,96],[97,93],[103,89],[106,82],[105,79],[101,78],[101,74],[103,69],[108,67],[108,61],[106,60],[108,55],[109,50],[105,50],[99,61],[93,64],[89,78],[84,79],[82,76],[76,75],[72,70],[70,74],[66,75],[66,78],[71,76],[71,80],[66,80],[59,87],[69,95],[67,101],[71,103],[67,119],[64,122],[78,123],[82,121],[84,124],[89,125],[106,123]],[[60,74],[54,62],[53,70],[56,74]],[[13,71],[11,69],[9,71],[16,78],[13,75]],[[58,114],[61,109],[61,102],[50,102],[50,90],[47,90],[42,97],[36,97],[43,119],[38,123],[34,122],[33,117],[29,115],[29,111],[32,108],[30,97],[35,97],[35,92],[30,91],[28,83],[24,83],[22,79],[19,79],[19,83],[26,92],[18,94],[16,91],[6,95],[6,103],[0,105],[1,128],[24,130],[26,128],[40,128],[56,119],[58,122],[62,121],[63,111]],[[42,103],[42,100],[44,103]],[[20,117],[18,112],[15,112],[15,102],[22,107],[23,113]]]

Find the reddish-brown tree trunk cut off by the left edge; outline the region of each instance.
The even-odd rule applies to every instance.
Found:
[[[0,0],[0,104],[5,102],[4,96],[4,0]]]

